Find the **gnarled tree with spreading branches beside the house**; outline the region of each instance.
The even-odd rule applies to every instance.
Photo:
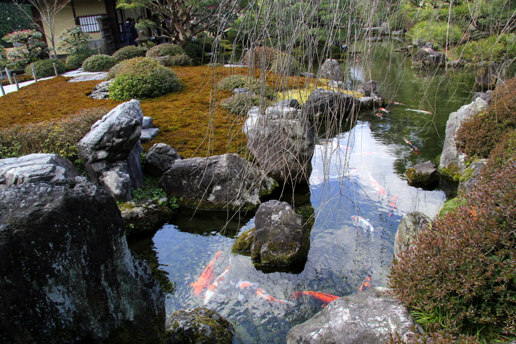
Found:
[[[163,36],[185,47],[200,32],[209,28],[220,32],[227,28],[246,3],[246,0],[119,0],[117,6],[149,9],[157,15],[159,23],[146,23],[163,29]]]

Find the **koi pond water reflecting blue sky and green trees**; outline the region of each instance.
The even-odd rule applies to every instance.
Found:
[[[294,194],[283,193],[282,199],[295,207],[311,205],[315,210],[308,259],[283,271],[256,269],[250,257],[231,254],[236,237],[253,227],[253,214],[194,214],[180,209],[152,242],[144,240],[153,245],[161,268],[176,285],[167,297],[168,315],[180,308],[204,306],[190,283],[197,281],[219,250],[223,259],[215,265],[217,274],[228,267],[231,258],[232,280],[257,283],[276,299],[293,302],[269,302],[252,295],[239,299],[236,288],[222,290],[223,296],[208,307],[235,325],[235,343],[284,343],[292,326],[322,309],[318,300],[289,298],[293,292],[346,296],[357,292],[368,274],[374,286],[387,285],[400,218],[415,210],[432,218],[445,201],[442,190],[411,187],[403,173],[418,162],[439,162],[448,115],[470,101],[473,86],[472,75],[464,71],[411,70],[410,57],[393,52],[406,44],[399,40],[370,46],[358,43],[355,49],[370,50],[370,59],[353,58],[343,64],[352,79],[375,79],[380,93],[406,106],[390,105],[383,118],[372,110],[359,114],[356,123],[323,123],[317,133],[310,185],[297,188]],[[419,148],[418,154],[405,139]],[[353,225],[354,215],[369,219],[374,231]]]

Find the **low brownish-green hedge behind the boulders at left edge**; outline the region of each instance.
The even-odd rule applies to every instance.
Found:
[[[78,141],[108,111],[106,107],[98,107],[59,120],[16,124],[0,129],[0,158],[54,153],[75,162],[78,159]]]

